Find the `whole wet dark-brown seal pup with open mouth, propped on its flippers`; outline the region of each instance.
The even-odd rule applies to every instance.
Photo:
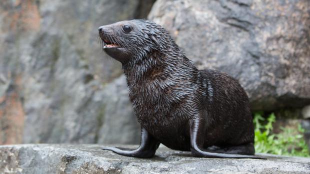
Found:
[[[103,50],[122,64],[141,143],[104,147],[151,158],[159,144],[194,157],[256,158],[249,101],[223,72],[198,70],[160,25],[127,20],[98,28]]]

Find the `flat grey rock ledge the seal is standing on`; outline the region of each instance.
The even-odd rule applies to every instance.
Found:
[[[194,158],[159,148],[152,159],[100,150],[98,145],[0,146],[0,173],[8,174],[307,174],[310,159],[259,154],[268,160]]]

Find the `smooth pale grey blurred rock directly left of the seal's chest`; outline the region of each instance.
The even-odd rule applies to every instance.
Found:
[[[128,100],[125,76],[122,75],[103,89],[102,127],[98,133],[99,144],[139,144],[140,125]]]

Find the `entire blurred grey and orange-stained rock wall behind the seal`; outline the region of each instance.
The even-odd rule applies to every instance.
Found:
[[[120,64],[97,35],[133,18],[163,25],[200,69],[238,79],[253,112],[297,119],[310,138],[308,0],[154,1],[1,0],[0,144],[138,143]]]

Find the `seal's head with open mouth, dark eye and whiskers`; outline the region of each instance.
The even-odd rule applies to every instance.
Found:
[[[150,20],[125,20],[98,30],[103,50],[121,63],[136,62],[154,50],[181,52],[168,32]]]

